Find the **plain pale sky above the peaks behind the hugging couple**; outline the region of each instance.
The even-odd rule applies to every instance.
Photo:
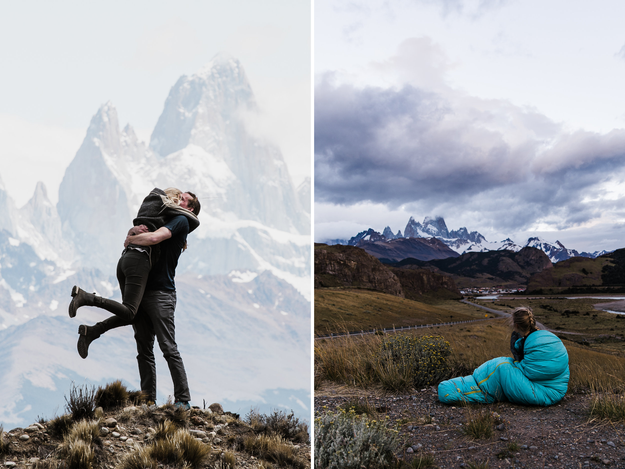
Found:
[[[113,101],[148,140],[179,76],[241,61],[299,184],[310,175],[309,1],[22,1],[0,4],[0,177],[17,206],[42,180],[56,203],[89,120]]]

